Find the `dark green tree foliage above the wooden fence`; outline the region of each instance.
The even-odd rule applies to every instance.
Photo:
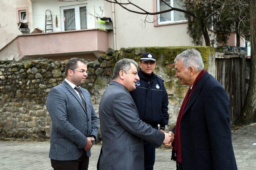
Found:
[[[188,34],[198,45],[202,45],[202,36],[206,45],[209,45],[207,37],[209,30],[214,34],[213,40],[218,44],[226,44],[232,31],[236,32],[237,46],[240,46],[240,37],[245,37],[246,40],[249,38],[249,11],[245,2],[185,0],[183,7],[196,16],[194,18],[189,14],[185,15],[188,20]]]

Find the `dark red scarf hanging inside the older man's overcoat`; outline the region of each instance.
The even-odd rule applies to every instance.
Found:
[[[182,116],[184,115],[184,111],[186,109],[186,106],[188,104],[188,101],[190,100],[190,96],[193,93],[194,89],[196,88],[196,85],[198,81],[202,78],[206,70],[202,70],[198,76],[196,77],[196,80],[192,86],[191,92],[190,88],[188,88],[188,92],[186,93],[186,96],[182,102],[182,105],[180,107],[180,112],[177,117],[176,126],[175,126],[175,134],[174,134],[174,143],[172,148],[172,158],[171,160],[176,160],[178,163],[182,163],[182,156],[181,156],[181,134],[180,134],[180,121]]]

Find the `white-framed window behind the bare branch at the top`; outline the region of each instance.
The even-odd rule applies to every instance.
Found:
[[[182,8],[182,1],[181,0],[164,0],[166,4],[174,7],[174,8]],[[157,0],[157,12],[164,11],[170,9],[164,2],[161,0]],[[185,14],[179,11],[170,11],[163,14],[158,14],[158,24],[165,24],[165,23],[178,23],[187,21],[185,18]]]

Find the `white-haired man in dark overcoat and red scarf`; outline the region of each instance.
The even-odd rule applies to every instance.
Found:
[[[236,170],[226,91],[204,70],[196,49],[180,53],[174,62],[175,76],[189,86],[172,129],[177,169]]]

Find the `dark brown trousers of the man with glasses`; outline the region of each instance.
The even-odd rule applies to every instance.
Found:
[[[51,159],[52,168],[54,170],[88,170],[89,157],[85,150],[78,160],[53,160]]]

